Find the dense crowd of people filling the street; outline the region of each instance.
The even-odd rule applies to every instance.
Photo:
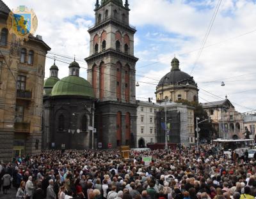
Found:
[[[24,199],[253,199],[256,161],[212,145],[156,151],[45,151],[1,163],[0,188]],[[143,157],[152,157],[144,163]]]

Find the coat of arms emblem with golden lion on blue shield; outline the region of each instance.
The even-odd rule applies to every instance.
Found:
[[[15,34],[21,43],[28,40],[29,34],[35,33],[37,22],[35,12],[26,6],[19,6],[16,10],[10,11],[7,20],[10,33]]]

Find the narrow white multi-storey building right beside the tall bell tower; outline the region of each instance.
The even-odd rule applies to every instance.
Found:
[[[157,142],[156,112],[159,106],[149,101],[137,101],[137,134],[136,147],[143,148],[147,144]]]

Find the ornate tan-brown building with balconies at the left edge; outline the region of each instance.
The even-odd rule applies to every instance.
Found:
[[[41,151],[45,56],[41,36],[22,45],[10,34],[10,9],[0,0],[0,160]]]

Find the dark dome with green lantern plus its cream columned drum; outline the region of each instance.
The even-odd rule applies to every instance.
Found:
[[[179,60],[174,58],[171,71],[161,78],[155,94],[157,102],[181,99],[198,102],[198,91],[193,77],[180,71]]]

